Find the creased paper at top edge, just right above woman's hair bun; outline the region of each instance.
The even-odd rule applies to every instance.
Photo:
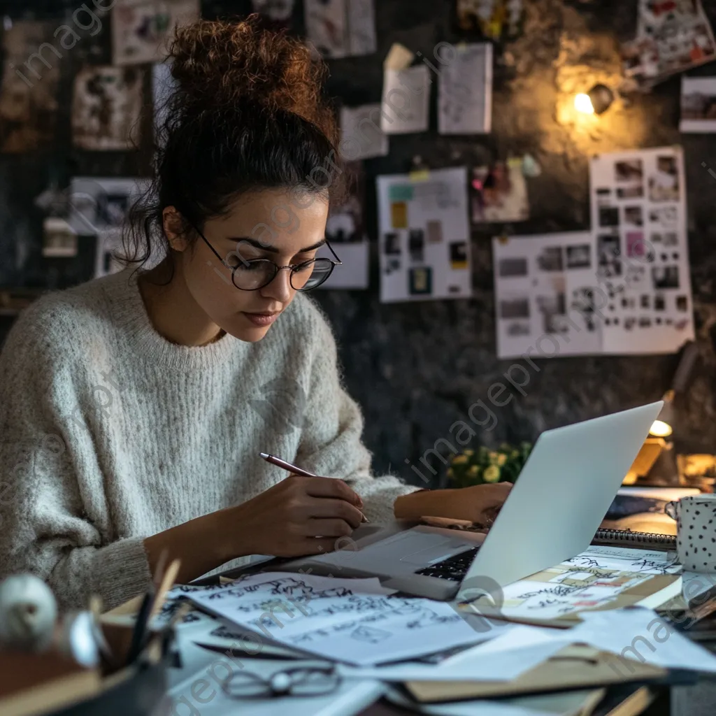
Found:
[[[373,0],[305,0],[306,34],[322,57],[375,52]]]

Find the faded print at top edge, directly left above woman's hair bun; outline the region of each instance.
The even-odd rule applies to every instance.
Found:
[[[117,0],[112,9],[113,63],[160,62],[177,25],[200,17],[200,0]]]

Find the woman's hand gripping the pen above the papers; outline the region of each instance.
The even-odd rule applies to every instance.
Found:
[[[291,475],[230,508],[230,519],[244,554],[315,555],[333,551],[359,526],[362,506],[343,480]]]

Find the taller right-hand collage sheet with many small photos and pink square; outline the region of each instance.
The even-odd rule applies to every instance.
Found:
[[[604,352],[677,352],[694,338],[682,150],[601,155],[590,178]]]

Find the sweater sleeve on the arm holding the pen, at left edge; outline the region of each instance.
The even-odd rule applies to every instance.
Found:
[[[30,572],[62,610],[91,594],[110,609],[143,591],[150,571],[143,540],[108,534],[102,520],[92,432],[71,418],[81,361],[57,323],[32,306],[0,353],[0,579]]]

